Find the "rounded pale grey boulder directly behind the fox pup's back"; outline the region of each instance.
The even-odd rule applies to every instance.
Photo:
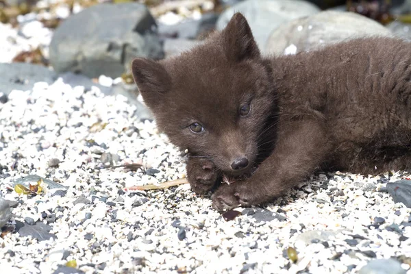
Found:
[[[390,30],[353,12],[320,12],[286,23],[271,33],[266,53],[292,54],[364,36],[393,36]]]

